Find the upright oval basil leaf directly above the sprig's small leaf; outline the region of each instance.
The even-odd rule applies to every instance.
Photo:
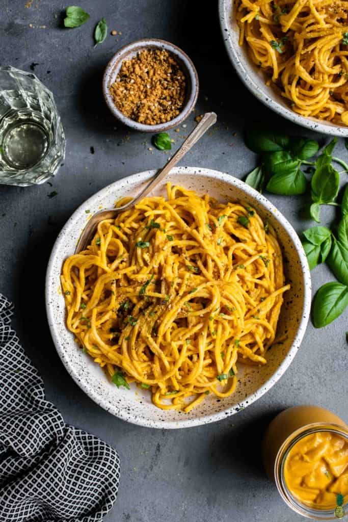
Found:
[[[313,174],[310,186],[314,203],[331,203],[338,194],[340,175],[331,164],[322,165]]]

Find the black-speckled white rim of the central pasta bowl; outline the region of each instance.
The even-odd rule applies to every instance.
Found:
[[[132,412],[125,411],[122,408],[115,408],[113,405],[110,406],[110,403],[104,400],[103,396],[99,395],[96,390],[89,386],[88,382],[84,382],[81,380],[78,373],[75,371],[74,367],[70,365],[69,360],[66,357],[65,347],[60,341],[59,338],[59,329],[57,327],[57,322],[55,321],[55,309],[51,303],[54,300],[53,292],[53,284],[54,278],[56,278],[56,274],[53,272],[54,262],[56,255],[59,255],[59,250],[61,249],[62,243],[66,243],[66,233],[69,230],[70,224],[75,222],[77,215],[85,215],[86,208],[91,208],[95,204],[99,198],[103,198],[107,196],[111,190],[117,193],[117,188],[119,185],[126,183],[132,183],[137,181],[138,183],[147,181],[153,174],[155,170],[148,170],[145,172],[140,172],[137,174],[133,174],[131,176],[127,176],[121,180],[118,180],[110,185],[107,185],[105,188],[102,188],[99,192],[95,193],[89,199],[87,199],[84,203],[82,203],[73,213],[73,215],[68,219],[65,226],[58,234],[56,242],[53,246],[52,253],[49,259],[49,264],[47,266],[46,271],[46,281],[45,281],[45,303],[46,303],[46,313],[47,320],[49,323],[49,327],[51,330],[52,339],[56,350],[58,352],[59,357],[61,358],[66,370],[73,377],[76,384],[99,406],[104,408],[106,411],[112,413],[115,417],[123,419],[125,421],[131,422],[133,424],[138,424],[140,426],[146,426],[149,428],[159,428],[159,429],[178,429],[178,428],[190,428],[193,426],[198,426],[201,424],[208,424],[210,422],[219,421],[225,419],[228,416],[233,415],[239,410],[246,408],[250,404],[253,404],[258,398],[262,397],[268,390],[280,379],[285,370],[290,366],[292,360],[294,359],[298,347],[301,345],[301,341],[306,331],[309,312],[310,312],[310,304],[311,304],[311,279],[310,279],[310,271],[308,267],[308,262],[306,258],[306,254],[303,250],[303,246],[301,241],[298,238],[297,233],[293,229],[292,225],[287,221],[287,219],[282,215],[279,210],[277,210],[277,214],[274,213],[275,207],[271,204],[271,202],[265,198],[262,194],[257,192],[254,188],[246,185],[241,180],[238,180],[236,177],[231,176],[230,174],[225,174],[220,171],[215,171],[211,169],[203,169],[200,167],[176,167],[172,169],[174,174],[187,174],[192,175],[195,173],[199,173],[200,176],[207,176],[216,180],[221,180],[226,184],[230,184],[233,187],[240,189],[246,195],[250,196],[257,200],[257,203],[260,204],[264,209],[270,212],[275,221],[277,221],[280,226],[286,230],[287,234],[292,239],[293,246],[295,248],[296,254],[298,256],[299,263],[301,265],[301,270],[303,274],[303,307],[302,307],[302,318],[297,325],[296,335],[294,336],[293,343],[289,352],[287,352],[286,357],[282,361],[282,363],[277,367],[277,370],[267,379],[267,381],[260,386],[256,392],[251,395],[245,397],[245,399],[238,404],[227,408],[225,410],[219,411],[217,413],[213,413],[207,416],[202,416],[196,419],[190,420],[173,420],[173,421],[159,421],[152,420],[149,418],[144,418],[139,415],[134,415]]]

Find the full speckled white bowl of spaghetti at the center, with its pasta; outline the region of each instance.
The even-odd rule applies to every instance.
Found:
[[[105,187],[68,220],[47,268],[47,318],[67,371],[97,404],[135,424],[186,428],[236,413],[278,381],[305,333],[310,275],[270,201],[194,167],[173,169],[74,254],[89,216],[153,173]]]

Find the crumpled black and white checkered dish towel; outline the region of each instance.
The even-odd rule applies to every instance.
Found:
[[[93,522],[116,500],[116,451],[45,399],[0,294],[0,522]]]

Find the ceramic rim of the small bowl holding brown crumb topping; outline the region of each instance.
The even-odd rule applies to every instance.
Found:
[[[110,94],[109,90],[109,82],[110,78],[113,75],[115,63],[120,61],[121,63],[126,59],[129,53],[134,53],[137,49],[141,49],[143,47],[158,47],[161,49],[165,49],[172,54],[176,55],[184,64],[190,79],[191,90],[189,92],[188,99],[186,104],[184,105],[183,110],[180,114],[178,114],[173,120],[165,123],[159,123],[157,125],[145,125],[144,123],[138,123],[134,120],[131,120],[127,116],[125,116],[121,111],[119,111],[114,104],[113,98]],[[121,66],[120,63],[120,66]],[[106,105],[110,109],[111,113],[124,125],[127,125],[130,128],[135,129],[136,131],[141,132],[151,132],[151,133],[159,133],[164,131],[169,131],[169,129],[180,125],[183,121],[186,120],[187,116],[194,109],[196,105],[197,98],[199,92],[199,80],[196,67],[194,66],[192,60],[189,56],[180,49],[177,45],[171,42],[167,42],[165,40],[161,40],[159,38],[144,38],[142,40],[136,40],[135,42],[128,43],[124,45],[121,49],[117,51],[116,54],[111,58],[110,62],[107,64],[103,76],[103,94]]]

